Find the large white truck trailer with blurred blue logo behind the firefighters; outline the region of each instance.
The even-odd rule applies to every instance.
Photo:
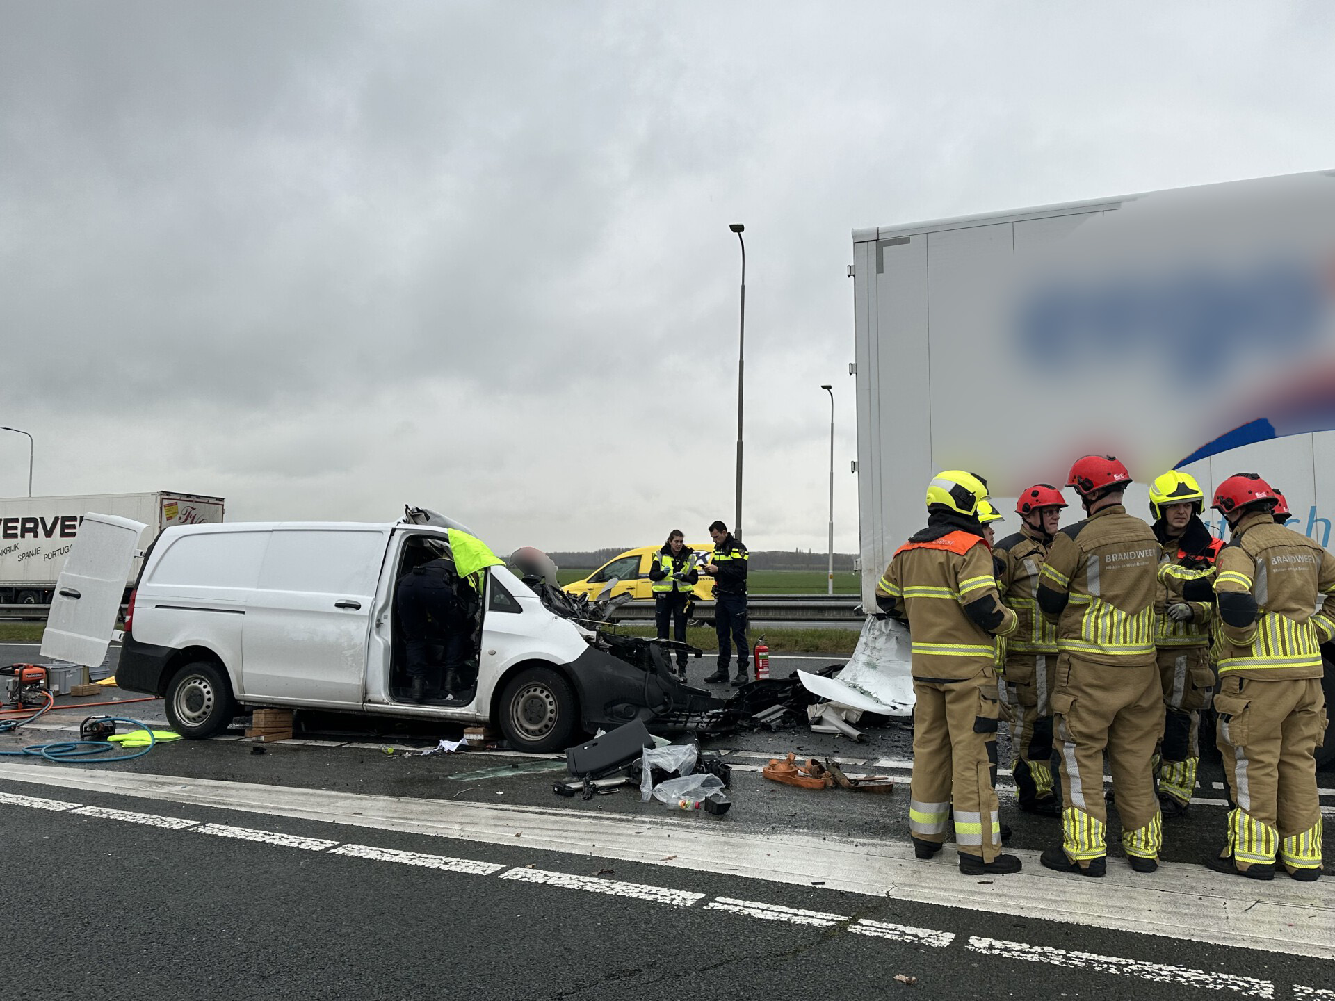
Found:
[[[1000,534],[1089,452],[1127,463],[1147,519],[1168,468],[1207,498],[1260,472],[1330,546],[1335,171],[854,230],[849,274],[868,609],[943,468],[988,479]]]

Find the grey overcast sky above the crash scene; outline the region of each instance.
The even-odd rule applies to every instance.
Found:
[[[850,551],[850,230],[1335,167],[1332,13],[0,0],[0,424],[36,494],[704,539],[741,222],[745,538],[824,550],[829,382]]]

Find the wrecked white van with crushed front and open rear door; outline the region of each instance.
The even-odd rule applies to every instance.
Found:
[[[226,727],[239,706],[287,706],[494,723],[527,751],[633,719],[670,729],[722,706],[677,682],[657,642],[558,615],[505,566],[477,578],[465,687],[410,699],[395,585],[425,559],[451,557],[450,529],[467,531],[427,515],[433,523],[167,529],[144,555],[116,683],[163,695],[174,729],[192,738]],[[43,642],[44,654],[80,663],[105,651],[120,598],[108,582],[124,587],[143,527],[109,515],[84,526]]]

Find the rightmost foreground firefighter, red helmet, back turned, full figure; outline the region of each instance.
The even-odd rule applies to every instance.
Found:
[[[1215,562],[1218,742],[1232,809],[1228,841],[1206,865],[1254,880],[1322,874],[1314,751],[1326,730],[1320,645],[1335,638],[1335,558],[1275,523],[1275,491],[1230,476],[1212,507],[1232,538]]]

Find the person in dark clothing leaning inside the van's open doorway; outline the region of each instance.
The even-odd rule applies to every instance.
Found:
[[[467,586],[454,573],[453,559],[434,557],[429,550],[425,555],[433,558],[409,569],[394,591],[405,635],[409,698],[449,701],[461,689],[461,669],[469,653],[471,622],[461,594]],[[430,683],[437,679],[439,685]]]

